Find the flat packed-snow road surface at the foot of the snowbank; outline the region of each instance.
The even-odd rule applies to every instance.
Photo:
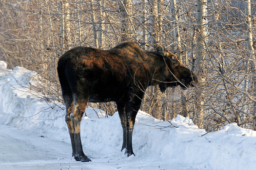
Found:
[[[92,162],[77,162],[71,157],[69,143],[0,124],[0,170],[191,170],[184,165],[171,168],[142,163],[135,157],[117,162],[92,152],[88,156]]]

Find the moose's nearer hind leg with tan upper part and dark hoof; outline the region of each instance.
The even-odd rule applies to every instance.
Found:
[[[80,124],[82,120],[83,113],[86,109],[88,101],[84,100],[78,100],[77,102],[75,101],[73,112],[70,115],[72,124],[73,124],[73,129],[74,129],[74,136],[75,136],[75,159],[77,161],[82,161],[82,162],[90,162],[91,159],[89,159],[84,153],[82,149],[82,143],[81,143],[81,136],[80,136]]]

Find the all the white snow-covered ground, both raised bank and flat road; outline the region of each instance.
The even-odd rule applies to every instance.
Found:
[[[256,132],[236,123],[206,133],[191,119],[178,116],[171,124],[140,111],[133,133],[136,156],[126,157],[120,151],[118,113],[105,118],[93,108],[86,109],[81,122],[83,149],[92,162],[77,162],[60,109],[64,106],[51,109],[50,103],[33,96],[24,88],[33,83],[27,75],[36,72],[7,70],[0,62],[0,170],[256,169]]]

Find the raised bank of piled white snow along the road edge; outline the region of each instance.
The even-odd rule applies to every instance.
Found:
[[[33,130],[39,136],[70,143],[64,106],[59,103],[59,108],[50,109],[49,103],[25,88],[31,81],[26,75],[36,74],[21,67],[8,70],[6,63],[0,61],[0,120],[6,125]],[[187,170],[255,170],[256,167],[256,132],[235,123],[207,134],[191,119],[177,116],[168,122],[140,111],[133,134],[136,156],[127,158],[120,152],[122,128],[118,113],[106,118],[104,111],[87,108],[86,114],[81,122],[84,150],[90,148],[109,160],[136,158],[170,167],[184,165]]]

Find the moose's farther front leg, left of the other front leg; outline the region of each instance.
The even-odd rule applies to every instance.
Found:
[[[127,131],[126,131],[126,115],[125,115],[125,111],[124,111],[124,108],[125,108],[125,103],[118,103],[117,102],[117,108],[118,108],[118,114],[119,114],[119,118],[121,120],[121,125],[122,125],[122,128],[123,128],[123,145],[122,145],[122,149],[125,149],[126,148],[126,137],[127,137]]]

